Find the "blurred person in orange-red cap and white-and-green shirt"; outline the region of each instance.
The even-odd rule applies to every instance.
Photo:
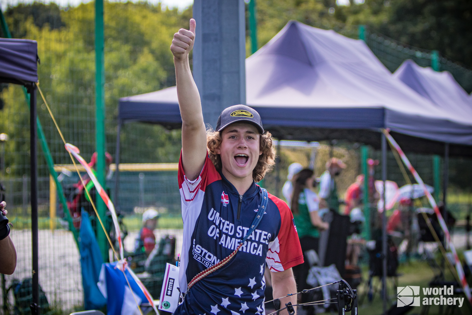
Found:
[[[335,177],[341,174],[346,168],[346,164],[338,158],[331,158],[326,162],[326,171],[320,177],[320,198],[322,204],[329,209],[339,212],[339,196],[337,195],[337,185]]]

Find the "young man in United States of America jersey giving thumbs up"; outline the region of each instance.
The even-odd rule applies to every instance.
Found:
[[[244,105],[224,110],[215,131],[203,123],[200,95],[188,62],[195,38],[190,30],[174,34],[177,96],[182,116],[182,153],[178,180],[184,239],[179,288],[186,292],[176,314],[264,314],[264,270],[269,267],[275,298],[296,292],[292,267],[303,263],[287,204],[269,195],[261,222],[236,255],[187,290],[195,275],[238,247],[261,204],[255,184],[274,164],[275,151],[259,114]],[[282,298],[296,304],[296,295]],[[284,311],[285,312],[285,311]],[[287,313],[283,313],[287,314]]]

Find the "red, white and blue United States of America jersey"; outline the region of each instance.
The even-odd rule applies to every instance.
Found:
[[[205,160],[204,170],[197,180],[189,181],[186,179],[182,167],[179,170],[179,175],[179,187],[182,188],[180,190],[181,198],[185,200],[189,211],[192,209],[193,213],[199,213],[197,217],[185,219],[185,224],[190,227],[185,229],[185,239],[192,242],[187,242],[184,246],[185,250],[182,250],[185,253],[184,258],[188,260],[188,265],[185,266],[183,273],[193,274],[195,271],[200,271],[204,264],[213,264],[215,260],[218,261],[218,258],[222,258],[219,257],[220,254],[227,252],[227,249],[230,250],[229,247],[234,247],[236,242],[237,246],[242,246],[239,245],[240,241],[236,239],[236,232],[245,235],[249,229],[241,230],[243,226],[240,224],[241,227],[238,230],[239,220],[236,220],[236,216],[239,195],[234,193],[234,187],[220,176],[209,159]],[[259,187],[253,184],[251,191],[255,188]],[[223,196],[224,201],[227,201],[228,198],[227,207],[218,206],[222,205],[220,201],[223,190],[225,195],[228,195],[228,197]],[[231,195],[228,193],[229,191],[232,192]],[[257,212],[261,197],[264,200],[261,192],[257,192],[254,198],[245,201],[244,205],[247,205],[247,209],[256,210],[253,216],[251,216],[251,213],[243,213],[246,216],[241,215],[242,221],[245,222],[253,219],[254,216],[260,215]],[[274,220],[264,219],[260,222],[257,229],[261,232],[254,230],[244,247],[248,252],[238,254],[244,255],[246,268],[222,268],[219,271],[220,276],[211,279],[213,290],[207,290],[203,285],[195,286],[192,289],[192,294],[186,296],[187,301],[179,306],[182,313],[192,313],[194,315],[246,315],[245,311],[247,311],[247,315],[263,315],[266,312],[264,305],[261,304],[263,303],[264,289],[270,284],[270,278],[269,282],[263,279],[266,268],[269,269],[268,267],[270,267],[272,271],[282,271],[284,265],[287,267],[292,264],[294,255],[297,256],[296,262],[303,261],[299,248],[300,241],[295,232],[292,218],[284,214],[288,210],[286,205],[272,202],[272,200],[269,200],[269,196],[265,196],[265,198],[264,203],[267,201],[269,203],[263,209],[261,206],[259,207],[261,213],[275,213],[276,215],[272,215]],[[220,208],[224,208],[223,211]],[[262,215],[259,219],[261,218],[263,218]],[[251,221],[247,223],[251,223]],[[218,228],[219,232],[212,227],[213,225]],[[246,224],[246,226],[250,227],[249,224]],[[207,233],[210,228],[211,231],[214,230],[211,237]],[[229,232],[232,232],[231,235]],[[226,234],[224,240],[223,234]],[[241,236],[238,238],[241,238]],[[251,254],[251,248],[248,248],[249,242],[254,244],[252,246],[254,254]],[[257,247],[255,247],[256,245]],[[243,247],[239,248],[241,251],[244,249]],[[258,265],[259,270],[257,269]],[[269,276],[269,273],[267,275]],[[259,290],[261,294],[259,294]],[[216,305],[213,305],[213,303]]]

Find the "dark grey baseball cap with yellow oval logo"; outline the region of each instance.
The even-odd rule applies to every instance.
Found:
[[[216,131],[222,131],[234,122],[242,121],[253,124],[259,133],[264,133],[261,116],[251,107],[246,105],[233,105],[221,112],[216,123]]]

